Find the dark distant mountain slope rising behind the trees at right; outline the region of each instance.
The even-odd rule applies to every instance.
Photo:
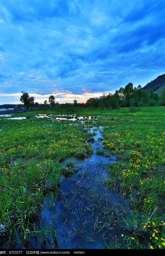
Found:
[[[154,90],[158,95],[161,94],[161,91],[165,88],[165,74],[158,76],[156,79],[146,84],[142,89],[150,92]]]

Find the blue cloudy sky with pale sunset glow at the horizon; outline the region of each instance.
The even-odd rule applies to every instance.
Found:
[[[0,2],[0,104],[86,102],[164,73],[164,0]]]

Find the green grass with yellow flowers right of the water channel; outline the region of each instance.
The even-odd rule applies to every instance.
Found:
[[[133,210],[131,217],[124,219],[124,228],[132,234],[123,236],[129,248],[141,248],[142,242],[148,248],[163,248],[165,244],[163,111],[164,108],[144,108],[133,115],[116,114],[98,121],[104,128],[103,148],[119,159],[109,164],[108,185],[112,189],[118,186],[121,196],[130,199]]]

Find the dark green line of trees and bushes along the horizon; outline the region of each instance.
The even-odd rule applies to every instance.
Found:
[[[30,97],[27,92],[22,91],[22,96],[20,101],[24,103],[25,108],[35,108],[39,107],[39,103],[34,103],[34,97]],[[86,103],[77,103],[76,100],[73,101],[73,104],[65,103],[59,104],[55,102],[55,97],[50,95],[48,102],[52,107],[68,108],[69,106],[83,106],[83,107],[93,107],[101,109],[117,109],[122,107],[148,107],[148,106],[165,106],[165,89],[162,90],[160,96],[156,94],[153,90],[150,90],[148,93],[146,90],[141,88],[141,85],[133,87],[132,83],[128,83],[125,88],[121,87],[119,90],[116,90],[114,94],[105,94],[98,98],[90,98]],[[45,100],[42,107],[50,107],[48,102]]]

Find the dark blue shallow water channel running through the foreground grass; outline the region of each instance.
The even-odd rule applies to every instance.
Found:
[[[106,165],[116,158],[96,154],[97,148],[102,146],[101,126],[88,129],[88,132],[94,134],[93,154],[84,160],[72,159],[76,171],[68,178],[65,172],[61,175],[60,192],[53,192],[55,206],[50,205],[52,197],[48,194],[39,219],[34,223],[36,230],[41,230],[41,225],[44,230],[47,226],[52,230],[54,226],[56,236],[52,240],[48,233],[41,242],[39,235],[33,235],[28,244],[21,244],[21,248],[103,248],[115,237],[121,239],[123,229],[119,216],[121,211],[130,209],[118,191],[112,192],[107,186]],[[21,241],[21,236],[19,238]],[[20,248],[17,243],[11,246]]]

